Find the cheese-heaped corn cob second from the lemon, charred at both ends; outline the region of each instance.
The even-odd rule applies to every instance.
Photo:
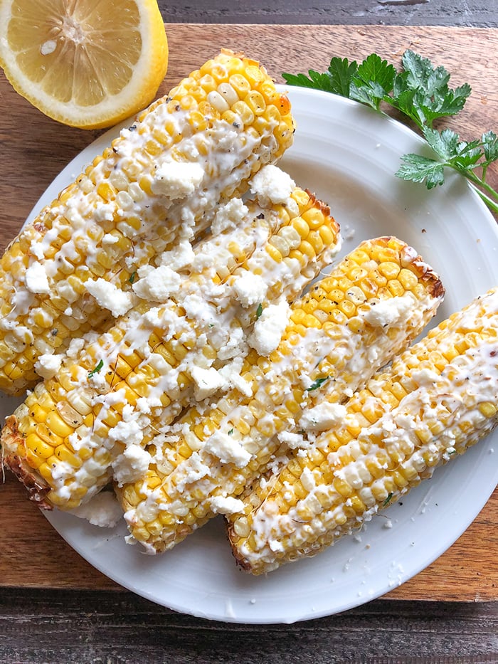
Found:
[[[144,463],[147,469],[147,444],[189,399],[238,381],[245,330],[258,308],[294,299],[339,248],[329,209],[302,189],[291,186],[284,202],[265,205],[248,204],[244,223],[201,241],[184,275],[176,275],[169,302],[151,308],[144,300],[76,349],[8,419],[4,462],[33,487],[33,500],[68,509],[113,471],[118,481],[133,478]],[[154,280],[140,287],[161,270],[146,268],[134,288],[154,299]],[[263,285],[256,289],[262,300],[242,288],[248,276]]]

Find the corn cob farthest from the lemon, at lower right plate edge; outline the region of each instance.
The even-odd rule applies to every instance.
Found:
[[[229,517],[253,574],[317,554],[498,422],[498,289],[398,357],[344,406],[341,421],[243,497]]]

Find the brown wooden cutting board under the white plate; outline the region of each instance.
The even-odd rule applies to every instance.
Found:
[[[160,93],[221,47],[260,58],[280,72],[326,68],[332,55],[363,58],[371,51],[397,63],[406,48],[445,65],[453,85],[470,81],[474,92],[449,124],[472,138],[494,127],[498,30],[387,28],[383,26],[167,26],[171,58]],[[60,169],[100,132],[63,127],[33,109],[0,75],[0,243],[6,246],[38,196]],[[498,171],[490,181],[498,186]],[[7,477],[0,489],[0,586],[117,589],[56,534],[21,487]],[[398,599],[498,600],[498,491],[472,526],[438,561],[392,591]],[[429,535],[430,536],[430,535]]]

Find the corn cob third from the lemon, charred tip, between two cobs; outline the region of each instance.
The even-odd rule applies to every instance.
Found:
[[[283,336],[268,357],[272,330],[262,316],[243,387],[205,412],[186,413],[176,435],[152,450],[146,477],[120,490],[133,537],[155,551],[170,549],[215,513],[233,511],[235,496],[280,443],[294,445],[295,429],[310,417],[316,431],[336,421],[337,402],[408,345],[442,295],[437,275],[413,249],[378,238],[292,305],[287,326],[280,314]]]

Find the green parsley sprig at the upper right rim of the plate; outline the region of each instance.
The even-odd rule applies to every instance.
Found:
[[[382,105],[396,109],[415,123],[435,153],[435,158],[405,154],[396,176],[425,184],[428,189],[444,184],[445,168],[455,169],[477,187],[484,202],[498,212],[498,192],[486,181],[487,169],[498,160],[498,137],[488,131],[470,142],[461,140],[450,129],[438,130],[433,123],[442,117],[457,115],[472,92],[465,83],[450,88],[450,73],[434,67],[428,58],[405,51],[401,71],[387,60],[371,53],[363,62],[332,58],[328,70],[319,73],[282,74],[289,85],[325,90],[382,110]]]

